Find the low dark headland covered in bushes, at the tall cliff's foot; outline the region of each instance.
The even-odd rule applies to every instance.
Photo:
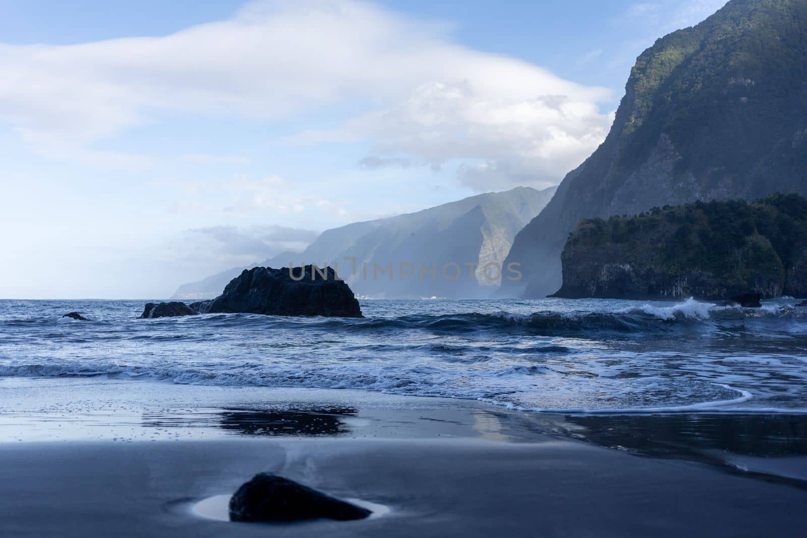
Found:
[[[587,219],[562,253],[566,298],[803,297],[807,198],[696,202]]]

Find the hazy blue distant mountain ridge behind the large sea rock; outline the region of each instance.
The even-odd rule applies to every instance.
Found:
[[[501,265],[516,233],[546,206],[554,191],[555,187],[516,187],[416,213],[352,223],[324,231],[303,252],[284,252],[256,265],[336,264],[340,276],[362,296],[484,297],[500,283]],[[484,268],[489,264],[486,276]],[[172,298],[215,297],[243,269],[249,268],[183,284]]]

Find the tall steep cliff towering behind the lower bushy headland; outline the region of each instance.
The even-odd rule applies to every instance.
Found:
[[[638,57],[600,148],[516,236],[506,295],[561,285],[580,219],[696,200],[807,194],[807,0],[732,0]]]

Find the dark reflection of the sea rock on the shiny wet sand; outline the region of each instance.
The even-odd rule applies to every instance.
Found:
[[[352,407],[314,409],[200,409],[144,413],[144,427],[221,428],[245,436],[339,436],[351,432]]]

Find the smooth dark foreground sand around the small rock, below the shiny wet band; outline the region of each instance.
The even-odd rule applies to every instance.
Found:
[[[225,440],[0,447],[4,536],[797,536],[807,491],[573,442]],[[225,523],[190,503],[261,470],[391,508]]]

